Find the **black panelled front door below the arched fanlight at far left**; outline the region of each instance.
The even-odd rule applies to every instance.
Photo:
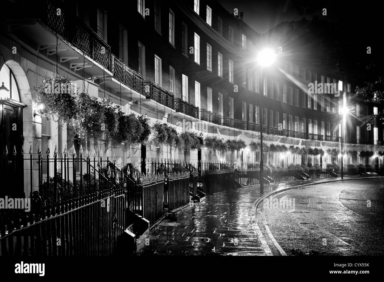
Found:
[[[0,196],[21,198],[24,197],[23,110],[8,99],[0,104],[0,114]]]

